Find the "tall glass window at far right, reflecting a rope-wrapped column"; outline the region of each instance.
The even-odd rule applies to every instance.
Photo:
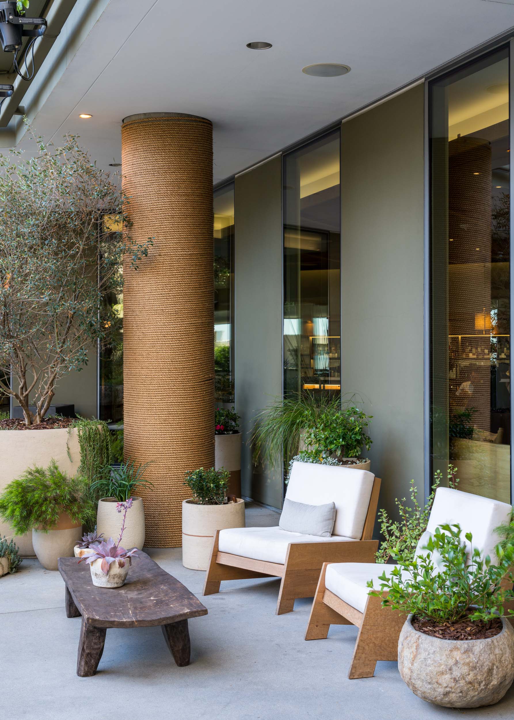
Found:
[[[431,451],[510,503],[509,58],[430,84]]]

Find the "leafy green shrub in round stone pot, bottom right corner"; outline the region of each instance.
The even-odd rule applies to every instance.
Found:
[[[380,578],[382,606],[408,613],[398,642],[402,679],[423,700],[451,708],[497,703],[514,679],[514,630],[503,616],[514,598],[505,589],[513,587],[514,546],[498,547],[492,564],[473,549],[472,534],[465,538],[459,525],[441,525],[425,554],[395,554],[397,565]]]

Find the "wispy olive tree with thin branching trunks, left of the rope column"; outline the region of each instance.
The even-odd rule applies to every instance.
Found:
[[[104,299],[121,292],[123,257],[137,269],[152,244],[132,240],[120,178],[75,136],[60,147],[31,137],[30,159],[0,156],[0,392],[19,402],[27,426],[45,417],[58,379],[109,342],[117,318]]]

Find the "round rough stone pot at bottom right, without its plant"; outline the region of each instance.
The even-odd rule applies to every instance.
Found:
[[[398,641],[398,670],[415,695],[446,708],[494,705],[514,679],[514,629],[502,618],[500,634],[484,640],[441,640],[412,627]]]

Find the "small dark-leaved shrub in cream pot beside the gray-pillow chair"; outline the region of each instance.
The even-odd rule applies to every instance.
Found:
[[[234,498],[227,503],[225,494],[230,474],[211,467],[186,472],[184,485],[192,498],[182,503],[182,564],[191,570],[207,570],[212,538],[217,530],[244,528],[245,503]]]

